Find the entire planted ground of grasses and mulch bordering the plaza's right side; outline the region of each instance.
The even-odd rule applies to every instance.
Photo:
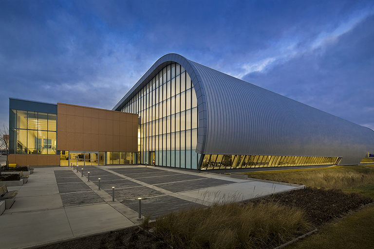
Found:
[[[307,188],[242,203],[167,213],[141,227],[43,249],[373,248],[374,165],[245,173]],[[317,231],[316,231],[317,229]]]

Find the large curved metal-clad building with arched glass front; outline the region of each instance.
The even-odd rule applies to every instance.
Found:
[[[140,159],[155,165],[348,165],[374,150],[367,127],[175,53],[157,60],[113,110],[141,116]]]

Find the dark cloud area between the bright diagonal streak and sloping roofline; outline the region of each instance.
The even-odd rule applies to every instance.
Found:
[[[372,15],[318,49],[243,79],[374,128],[373,27]]]

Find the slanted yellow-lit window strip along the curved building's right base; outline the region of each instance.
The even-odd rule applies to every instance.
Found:
[[[205,155],[202,169],[335,165],[339,159],[338,157]]]

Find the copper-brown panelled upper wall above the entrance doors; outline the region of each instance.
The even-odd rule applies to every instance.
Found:
[[[136,114],[57,103],[60,112],[64,108],[68,115],[57,117],[58,150],[137,152]]]

